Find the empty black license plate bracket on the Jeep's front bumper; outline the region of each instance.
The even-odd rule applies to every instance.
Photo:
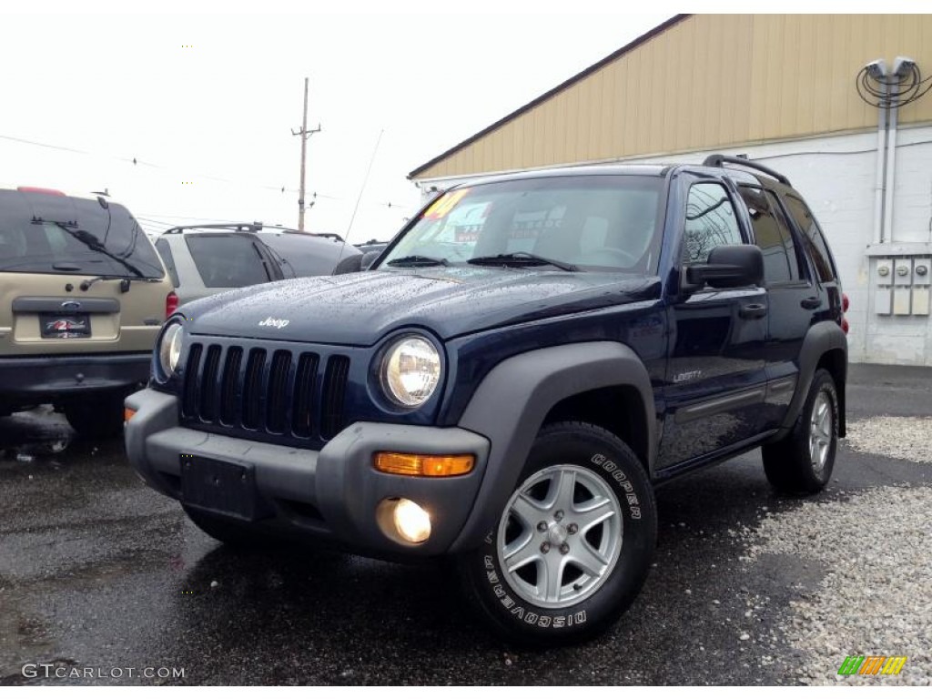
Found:
[[[182,454],[180,459],[181,500],[185,505],[250,522],[267,516],[252,465],[193,454]]]

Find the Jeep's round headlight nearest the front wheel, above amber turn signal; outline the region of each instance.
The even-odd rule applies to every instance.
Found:
[[[382,387],[397,404],[415,407],[431,397],[440,381],[440,354],[423,337],[398,340],[385,354]]]

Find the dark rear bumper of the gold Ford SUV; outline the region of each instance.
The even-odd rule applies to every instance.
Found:
[[[48,402],[69,394],[144,385],[152,352],[0,357],[0,394]]]

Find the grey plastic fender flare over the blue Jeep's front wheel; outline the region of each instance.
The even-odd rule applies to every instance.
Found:
[[[491,443],[486,472],[473,509],[451,552],[486,536],[511,496],[544,418],[565,398],[611,387],[633,388],[644,406],[648,463],[656,459],[657,427],[651,379],[633,349],[618,342],[584,342],[533,349],[499,363],[467,405],[459,427]]]

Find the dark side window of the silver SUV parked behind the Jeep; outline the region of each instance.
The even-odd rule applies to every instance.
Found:
[[[240,287],[271,281],[254,240],[241,235],[185,236],[201,280],[207,287]]]

